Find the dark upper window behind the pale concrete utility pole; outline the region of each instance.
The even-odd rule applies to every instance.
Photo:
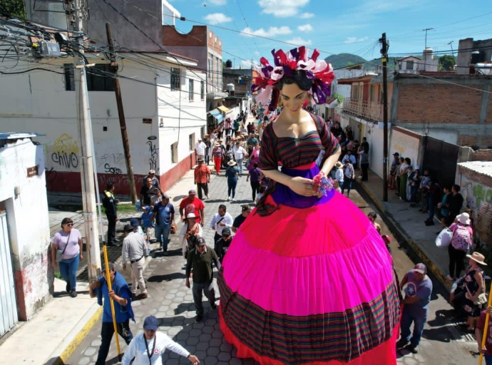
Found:
[[[73,64],[63,65],[65,72],[65,90],[75,91],[75,76]],[[88,91],[115,91],[114,72],[107,63],[96,63],[92,67],[86,68],[87,90]]]

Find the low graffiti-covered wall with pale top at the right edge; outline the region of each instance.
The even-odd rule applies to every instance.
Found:
[[[469,164],[469,163],[468,163]],[[466,165],[468,165],[466,163]],[[490,165],[490,163],[488,163]],[[458,165],[461,195],[472,210],[475,235],[481,243],[492,245],[492,176]],[[464,207],[463,207],[464,208]]]

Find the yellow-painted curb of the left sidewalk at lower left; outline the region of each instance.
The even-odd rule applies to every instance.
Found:
[[[94,304],[93,307],[97,308],[94,309],[91,308],[88,313],[81,319],[81,321],[77,324],[76,328],[74,329],[77,331],[77,327],[79,327],[82,324],[82,328],[77,331],[75,336],[71,340],[69,340],[68,344],[64,344],[62,342],[59,347],[63,349],[57,349],[56,351],[53,352],[53,356],[51,356],[51,359],[46,361],[44,365],[64,365],[66,364],[66,361],[70,359],[70,357],[73,355],[73,353],[76,351],[78,346],[81,344],[83,339],[86,338],[88,333],[93,329],[93,327],[96,325],[101,320],[101,317],[103,315],[103,307],[99,306],[98,304]],[[87,321],[85,319],[88,317]],[[85,322],[85,324],[84,324]],[[59,355],[56,355],[56,354]]]

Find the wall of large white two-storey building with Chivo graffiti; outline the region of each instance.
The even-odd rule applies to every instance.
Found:
[[[178,158],[182,160],[189,156],[188,136],[198,136],[200,128],[206,123],[205,100],[200,100],[200,81],[195,74],[201,75],[204,80],[205,75],[188,71],[183,77],[181,93],[171,92],[170,67],[177,65],[152,61],[155,67],[144,66],[135,63],[132,58],[137,59],[128,55],[120,61],[119,75],[133,172],[135,180],[140,182],[150,169],[163,175],[173,168],[170,144],[178,141],[178,129]],[[142,60],[149,62],[138,58],[138,62]],[[89,61],[98,62],[93,58]],[[61,72],[63,63],[70,62],[71,58],[58,59],[51,61],[52,66],[44,67]],[[19,65],[19,69],[29,66],[32,65],[24,63]],[[188,100],[188,77],[197,79],[194,101]],[[75,91],[66,91],[62,74],[49,71],[2,76],[1,80],[0,130],[44,133],[46,137],[38,140],[44,145],[48,186],[53,187],[53,191],[78,191],[81,151]],[[156,86],[157,81],[160,86]],[[117,192],[128,190],[115,93],[89,91],[88,94],[101,187],[111,179],[116,183]],[[159,127],[160,118],[163,118],[163,128]]]

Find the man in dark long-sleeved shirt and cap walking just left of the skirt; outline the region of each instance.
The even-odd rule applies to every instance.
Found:
[[[213,288],[213,269],[212,263],[215,263],[217,270],[220,270],[220,262],[215,250],[207,247],[205,238],[200,237],[195,241],[195,250],[188,253],[186,262],[186,287],[190,288],[190,274],[193,269],[193,302],[197,309],[195,323],[203,320],[203,303],[202,293],[205,293],[210,307],[217,308],[215,304],[215,290]]]

